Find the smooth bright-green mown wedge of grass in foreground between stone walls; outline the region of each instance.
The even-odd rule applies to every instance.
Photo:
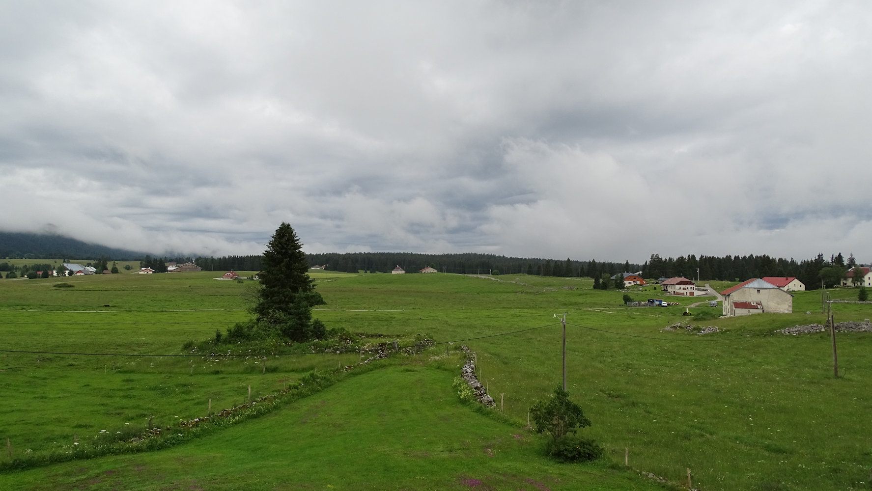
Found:
[[[562,466],[537,438],[457,402],[453,372],[370,372],[288,409],[166,451],[0,474],[3,489],[659,489]]]

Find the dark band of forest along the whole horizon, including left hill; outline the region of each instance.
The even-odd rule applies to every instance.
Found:
[[[116,261],[139,260],[142,266],[158,271],[166,270],[165,263],[184,263],[189,257],[146,256],[141,252],[112,249],[89,244],[60,235],[39,235],[0,232],[0,258],[60,258],[107,259]],[[661,258],[652,254],[643,264],[623,262],[575,261],[542,258],[506,257],[492,254],[412,254],[401,252],[328,253],[306,255],[310,266],[345,272],[389,273],[397,266],[406,273],[417,273],[432,266],[439,272],[475,274],[526,273],[539,276],[613,276],[620,272],[642,271],[645,278],[685,276],[691,280],[744,281],[763,276],[795,276],[806,284],[807,290],[837,284],[844,271],[855,265],[853,255],[845,259],[841,253],[827,259],[818,254],[812,259],[797,262],[794,259],[760,256],[678,256]],[[197,257],[194,263],[208,271],[259,271],[262,256]],[[0,271],[12,269],[0,263]]]

